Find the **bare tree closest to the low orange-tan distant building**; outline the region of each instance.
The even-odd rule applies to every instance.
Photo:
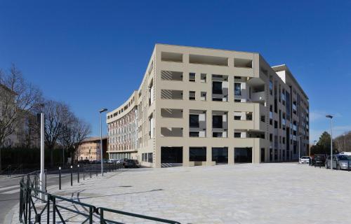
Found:
[[[75,158],[79,145],[89,134],[91,134],[91,125],[82,119],[74,117],[65,123],[58,141],[65,151],[69,151],[72,161]]]

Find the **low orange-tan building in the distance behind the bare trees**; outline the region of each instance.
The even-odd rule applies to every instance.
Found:
[[[102,138],[103,158],[107,158],[107,137]],[[81,142],[76,153],[76,160],[101,160],[100,137],[91,137]]]

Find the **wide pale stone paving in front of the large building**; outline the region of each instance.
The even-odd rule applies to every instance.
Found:
[[[125,169],[63,189],[52,193],[180,223],[351,222],[351,172],[296,163]]]

